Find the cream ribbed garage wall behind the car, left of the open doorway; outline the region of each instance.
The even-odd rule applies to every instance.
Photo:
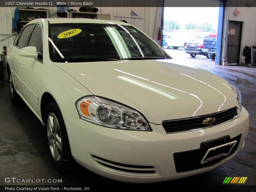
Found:
[[[38,8],[38,7],[35,7]],[[46,7],[50,10],[52,18],[57,18],[56,7]],[[153,38],[158,44],[157,40],[158,29],[161,27],[161,7],[97,7],[99,14],[110,14],[110,20],[126,20],[128,23],[139,28],[148,36]],[[14,7],[0,7],[0,40],[7,35],[12,34],[12,17],[14,14]],[[79,7],[70,7],[70,9],[79,10]],[[132,17],[131,11],[138,16]],[[155,25],[156,23],[156,25]],[[11,36],[4,41],[0,41],[0,49],[3,46],[8,46],[13,42],[15,36]]]

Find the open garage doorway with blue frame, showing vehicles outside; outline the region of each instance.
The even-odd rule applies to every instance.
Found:
[[[165,1],[162,45],[180,63],[220,64],[223,3],[206,1],[215,6],[168,7]]]

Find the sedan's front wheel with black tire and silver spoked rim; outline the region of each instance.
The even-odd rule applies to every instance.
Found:
[[[48,155],[59,172],[69,172],[74,165],[68,133],[56,101],[51,101],[44,116],[45,139]]]

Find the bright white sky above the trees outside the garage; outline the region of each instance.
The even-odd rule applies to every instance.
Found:
[[[213,23],[218,26],[219,7],[164,7],[164,20],[172,20],[180,24],[181,29],[186,23]]]

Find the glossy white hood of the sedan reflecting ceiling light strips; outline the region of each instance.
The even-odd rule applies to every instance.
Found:
[[[54,65],[93,95],[130,106],[155,124],[238,107],[226,80],[175,62],[127,60]]]

